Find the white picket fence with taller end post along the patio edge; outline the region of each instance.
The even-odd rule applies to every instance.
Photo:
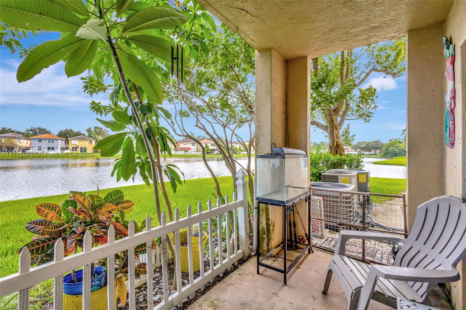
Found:
[[[136,309],[136,285],[141,283],[137,281],[135,277],[135,247],[145,243],[146,244],[146,264],[147,264],[147,294],[145,295],[147,301],[147,309],[172,309],[174,306],[181,305],[182,301],[191,296],[196,290],[203,288],[206,283],[211,281],[215,276],[223,274],[223,271],[232,266],[241,257],[247,257],[249,255],[249,227],[248,227],[248,210],[247,210],[247,174],[243,169],[240,169],[236,175],[238,180],[237,194],[233,193],[233,202],[228,201],[228,196],[225,196],[225,204],[221,205],[220,197],[217,198],[217,207],[212,208],[212,203],[209,199],[208,209],[202,212],[202,204],[198,203],[198,213],[192,214],[191,206],[187,206],[187,216],[179,219],[179,210],[175,210],[175,221],[167,223],[166,214],[162,214],[161,225],[152,228],[151,217],[148,215],[145,221],[146,230],[135,234],[134,222],[131,220],[128,227],[128,236],[119,240],[115,240],[115,230],[113,225],[110,225],[108,229],[108,242],[107,244],[100,245],[92,248],[92,237],[90,232],[87,231],[83,240],[83,251],[74,255],[64,257],[64,245],[62,239],[58,239],[55,243],[55,259],[51,263],[46,263],[41,266],[30,268],[30,253],[27,248],[23,248],[19,257],[19,272],[6,276],[0,279],[0,298],[13,296],[12,294],[19,293],[17,298],[17,309],[26,310],[29,309],[30,305],[30,288],[34,287],[39,283],[54,279],[53,291],[50,291],[49,295],[53,294],[53,309],[62,310],[67,309],[63,304],[63,275],[69,273],[70,270],[77,270],[83,268],[83,285],[82,285],[82,309],[102,309],[91,306],[91,264],[99,260],[107,259],[107,266],[114,265],[115,255],[117,253],[128,250],[128,281],[126,282],[128,289],[128,303],[129,309]],[[230,236],[230,221],[226,221],[226,241],[232,240],[233,243],[226,242],[226,254],[222,251],[222,216],[224,214],[230,215],[233,212],[233,236]],[[228,216],[229,217],[229,216]],[[228,218],[227,217],[227,218]],[[213,220],[212,220],[213,219]],[[213,237],[212,221],[217,221],[218,230],[216,232],[218,236],[218,263],[214,259],[214,248],[213,248]],[[208,222],[208,243],[209,243],[209,263],[210,268],[205,272],[204,269],[204,250],[203,250],[203,234],[199,229],[199,276],[194,278],[193,272],[193,257],[192,257],[192,226],[199,225],[202,228],[202,223]],[[188,249],[188,264],[189,264],[189,283],[183,287],[182,275],[180,266],[180,241],[179,231],[187,228],[187,249]],[[238,235],[237,235],[238,233]],[[166,236],[173,234],[175,240],[175,266],[177,275],[177,292],[170,292],[169,288],[169,274],[167,270],[168,256]],[[154,306],[154,290],[153,290],[153,276],[154,262],[156,259],[152,253],[152,240],[161,238],[160,247],[158,251],[161,251],[162,255],[158,256],[161,258],[161,269],[163,279],[163,292],[162,301]],[[226,255],[226,258],[224,256]],[[147,257],[149,259],[147,259]],[[141,257],[140,257],[141,258]],[[141,276],[143,277],[143,276]],[[42,294],[46,294],[43,292]],[[107,270],[107,309],[116,309],[116,298],[115,298],[115,269],[108,268]],[[50,297],[50,296],[48,296]],[[75,308],[69,308],[75,309]]]

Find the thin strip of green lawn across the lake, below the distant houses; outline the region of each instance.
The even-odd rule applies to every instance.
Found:
[[[0,159],[33,159],[33,158],[79,158],[79,159],[92,159],[101,158],[100,153],[58,153],[58,154],[38,154],[38,153],[0,153]],[[111,157],[121,157],[121,154],[116,154]],[[167,157],[202,157],[202,154],[172,154]],[[206,158],[221,158],[221,154],[206,154]],[[235,154],[233,157],[247,157],[246,154]],[[254,157],[254,155],[253,155]]]

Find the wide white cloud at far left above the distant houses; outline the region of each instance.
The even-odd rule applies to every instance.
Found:
[[[29,81],[19,83],[16,80],[16,61],[2,62],[0,68],[0,104],[1,105],[36,105],[57,106],[70,109],[87,109],[92,100],[108,103],[106,94],[91,97],[82,91],[80,76],[68,78],[64,72],[64,63],[59,62],[48,67]],[[81,76],[84,76],[82,74]]]

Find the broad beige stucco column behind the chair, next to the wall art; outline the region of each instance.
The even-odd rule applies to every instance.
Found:
[[[420,204],[443,194],[443,25],[408,32],[408,229]]]

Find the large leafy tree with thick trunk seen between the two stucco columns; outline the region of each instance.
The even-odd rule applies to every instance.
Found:
[[[399,77],[405,70],[403,38],[312,59],[311,125],[329,137],[329,151],[344,155],[341,130],[345,121],[369,122],[377,109],[377,90],[363,83],[373,73]]]

